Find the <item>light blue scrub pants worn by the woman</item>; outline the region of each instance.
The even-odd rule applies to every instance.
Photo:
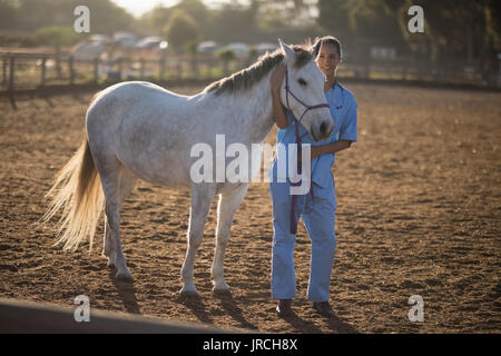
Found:
[[[296,274],[294,268],[294,244],[291,234],[292,196],[288,182],[271,182],[273,201],[273,256],[272,297],[293,299],[296,297]],[[312,182],[312,190],[297,196],[296,221],[299,216],[312,240],[310,281],[307,298],[312,301],[327,301],[331,273],[334,264],[336,235],[334,230],[336,198],[334,179],[326,187]]]

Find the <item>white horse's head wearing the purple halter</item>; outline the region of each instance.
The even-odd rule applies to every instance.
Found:
[[[296,52],[279,41],[287,66],[282,102],[315,141],[327,139],[334,129],[324,93],[325,76],[308,52]]]

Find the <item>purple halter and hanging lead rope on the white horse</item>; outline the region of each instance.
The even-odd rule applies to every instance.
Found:
[[[299,120],[297,120],[297,118],[295,117],[293,110],[291,110],[291,106],[288,103],[288,96],[292,96],[294,99],[296,99],[297,102],[299,102],[303,107],[305,107],[306,109],[303,111],[303,115],[301,116]],[[291,87],[288,86],[288,69],[287,66],[285,66],[285,100],[287,101],[287,109],[288,111],[292,113],[294,120],[296,121],[295,125],[295,134],[296,134],[296,145],[297,145],[297,172],[301,176],[303,174],[303,166],[302,166],[302,147],[301,147],[301,139],[307,135],[304,134],[303,136],[299,136],[299,123],[303,120],[305,113],[310,110],[314,110],[314,109],[322,109],[322,108],[331,108],[331,106],[328,103],[318,103],[318,105],[314,105],[314,106],[310,106],[305,102],[303,102],[299,98],[297,98],[294,92],[291,91]],[[291,182],[292,186],[301,186],[301,179],[297,182]],[[313,196],[313,187],[310,188],[311,192],[312,192],[312,198],[314,198]],[[296,202],[297,202],[297,196],[293,195],[292,197],[292,207],[291,207],[291,234],[296,234],[297,233],[297,221],[296,221],[296,215],[295,215],[295,210],[296,210]]]

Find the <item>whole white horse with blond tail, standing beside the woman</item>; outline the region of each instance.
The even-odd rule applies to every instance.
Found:
[[[190,179],[190,148],[198,142],[215,147],[216,135],[226,144],[240,142],[249,150],[263,142],[273,127],[269,77],[285,60],[288,68],[289,109],[305,113],[301,103],[325,103],[325,77],[312,55],[299,47],[266,53],[256,63],[208,86],[203,92],[179,96],[148,82],[122,82],[99,92],[87,110],[86,138],[56,176],[45,220],[62,209],[56,244],[76,250],[92,238],[105,207],[104,255],[116,277],[131,279],[120,241],[120,208],[138,178],[168,187],[191,188],[187,251],[181,268],[181,294],[196,294],[193,268],[202,243],[210,202],[219,195],[216,248],[212,266],[214,291],[227,293],[223,275],[225,249],[234,214],[244,198],[246,182],[200,182]],[[301,79],[301,80],[299,80]],[[282,90],[286,102],[287,91]],[[333,129],[328,108],[311,110],[302,123],[312,137],[325,139]],[[213,150],[215,151],[215,150]]]

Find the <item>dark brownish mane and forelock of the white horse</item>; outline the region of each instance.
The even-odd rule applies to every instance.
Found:
[[[305,66],[313,59],[313,56],[306,46],[293,46],[293,49],[297,55],[296,62],[294,63],[296,68]],[[272,68],[278,65],[283,59],[284,53],[281,49],[271,53],[266,52],[250,67],[210,83],[204,89],[204,92],[216,90],[215,95],[218,96],[224,92],[234,93],[236,91],[247,90],[266,76]]]

